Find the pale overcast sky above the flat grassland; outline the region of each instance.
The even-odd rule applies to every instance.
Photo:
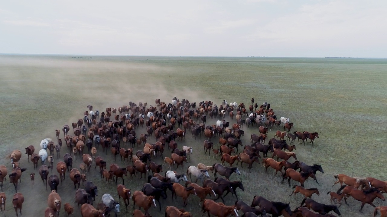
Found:
[[[387,58],[385,0],[18,0],[0,53]]]

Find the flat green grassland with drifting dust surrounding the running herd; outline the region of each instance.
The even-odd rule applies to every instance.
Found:
[[[10,173],[11,164],[5,157],[14,149],[22,151],[21,167],[27,167],[18,186],[18,192],[25,196],[23,216],[41,216],[47,207],[46,198],[50,191],[44,189],[38,176],[31,189],[28,177],[33,166],[27,163],[24,147],[32,144],[38,152],[42,139],[55,138],[55,129],[62,129],[64,124],[70,125],[82,118],[87,105],[93,105],[94,110],[102,112],[106,107],[128,105],[129,101],[153,105],[154,100],[160,98],[169,103],[174,96],[198,103],[212,100],[217,105],[223,99],[248,105],[254,97],[258,103],[271,103],[277,117],[289,117],[295,123],[295,131],[319,132],[320,138],[316,139],[313,147],[311,144],[297,144],[295,152],[300,161],[322,164],[325,173],[317,173],[320,185],[309,180],[305,187],[319,188],[320,196],[313,195],[313,199],[329,204],[326,193],[339,188],[339,185],[331,186],[337,173],[387,180],[387,158],[384,157],[387,139],[386,64],[385,59],[118,56],[74,59],[71,56],[3,55],[0,56],[0,163],[5,164]],[[207,120],[207,125],[215,124],[216,120]],[[244,128],[247,136],[242,141],[246,145],[250,144],[250,134],[257,133],[257,128]],[[140,127],[136,133],[145,131],[145,127]],[[269,138],[274,136],[274,132],[269,132]],[[195,141],[188,132],[186,140],[178,142],[179,147],[187,145],[194,148],[192,162],[188,165],[212,165],[220,161],[220,157],[204,155],[203,141],[204,138]],[[155,142],[154,137],[150,142]],[[98,151],[97,155],[108,159],[108,165],[113,163],[109,153],[105,156],[101,150]],[[66,148],[62,147],[61,156],[64,153]],[[164,152],[165,156],[168,156],[168,151]],[[54,164],[62,160],[55,159]],[[154,161],[161,163],[161,158]],[[75,161],[73,168],[79,168],[80,163],[80,160]],[[119,157],[116,163],[124,166]],[[185,164],[184,172],[188,165]],[[57,174],[55,169],[53,172]],[[178,172],[183,170],[179,168]],[[58,193],[62,204],[70,202],[74,205],[74,185],[68,174],[66,177]],[[104,193],[111,193],[118,199],[116,186],[101,181],[97,170],[87,173],[87,177],[99,188],[96,203]],[[302,200],[301,195],[296,200],[293,196],[288,197],[293,189],[287,183],[281,184],[282,177],[274,177],[270,168],[266,173],[260,164],[254,164],[251,173],[243,168],[240,176],[232,175],[230,179],[243,181],[245,191],[238,189],[237,192],[240,200],[248,204],[254,195],[290,202],[292,209],[298,207]],[[118,183],[121,182],[118,180]],[[291,183],[296,184],[294,181]],[[125,185],[132,192],[141,190],[143,184],[144,180],[125,177]],[[3,191],[8,197],[7,213],[13,214],[11,201],[15,191],[8,178]],[[225,199],[226,205],[235,202],[231,195]],[[365,205],[364,214],[360,214],[361,203],[353,198],[348,201],[349,206],[340,207],[342,216],[371,215],[373,208],[370,205]],[[198,203],[198,198],[190,196],[186,210],[200,216]],[[132,204],[131,201],[128,207],[130,215]],[[378,204],[387,203],[376,199],[375,205]],[[123,202],[121,205],[123,212],[120,216],[123,216]],[[172,202],[168,193],[167,200],[161,201],[161,205],[162,210],[166,205],[181,208],[182,201],[178,198],[177,202]],[[77,207],[75,212],[76,216],[80,215]],[[164,214],[158,209],[151,209],[150,213],[153,216]]]

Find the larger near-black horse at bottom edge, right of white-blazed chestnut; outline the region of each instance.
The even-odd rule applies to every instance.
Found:
[[[279,217],[282,215],[282,210],[285,210],[289,215],[293,214],[289,207],[289,203],[273,202],[257,195],[253,197],[253,202],[251,203],[251,207],[256,206],[259,206],[260,209],[272,214],[273,217]]]

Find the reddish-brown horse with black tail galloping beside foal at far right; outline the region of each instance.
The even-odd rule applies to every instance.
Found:
[[[343,185],[339,188],[339,190],[337,190],[337,193],[339,194],[339,193],[341,193],[341,191],[342,191],[342,193],[346,194],[346,197],[344,197],[344,201],[347,205],[348,205],[347,198],[349,196],[352,196],[355,200],[358,200],[361,202],[361,207],[359,210],[360,212],[366,203],[375,207],[375,205],[373,205],[372,202],[377,197],[382,199],[383,201],[385,201],[384,196],[377,188],[370,188],[370,190],[362,191],[362,190],[358,190],[357,188],[352,187],[352,186]]]

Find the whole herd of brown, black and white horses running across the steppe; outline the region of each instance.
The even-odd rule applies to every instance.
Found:
[[[375,207],[373,201],[377,197],[385,200],[382,193],[387,192],[387,182],[372,177],[353,178],[344,174],[335,175],[337,181],[334,185],[340,183],[339,190],[327,193],[330,195],[330,201],[334,204],[327,205],[313,200],[312,195],[320,195],[320,192],[317,188],[304,188],[304,182],[308,178],[312,178],[318,184],[316,173],[317,171],[324,173],[324,170],[319,164],[308,165],[299,161],[293,151],[296,150],[296,145],[292,145],[292,143],[297,139],[301,144],[305,145],[306,141],[313,145],[315,139],[319,138],[318,132],[293,131],[290,133],[294,124],[290,122],[289,118],[277,119],[270,103],[264,102],[262,105],[258,105],[254,101],[252,98],[248,110],[244,103],[232,102],[228,104],[226,100],[223,100],[218,107],[211,101],[202,101],[196,105],[196,102],[190,103],[186,99],[180,101],[176,97],[168,104],[160,102],[160,99],[155,100],[155,106],[148,106],[147,103],[141,102],[139,105],[129,102],[129,105],[123,105],[118,109],[106,108],[106,111],[101,113],[98,110],[93,110],[92,105],[88,105],[84,117],[71,123],[74,135],[70,135],[69,125],[62,127],[63,142],[66,144],[65,150],[67,150],[62,158],[60,157],[62,138],[59,129],[55,130],[57,143],[55,144],[50,138],[43,139],[38,154],[35,153],[33,145],[26,147],[28,163],[31,160],[34,170],[38,170],[46,190],[48,189],[47,185],[51,190],[48,195],[45,217],[59,216],[62,199],[58,193],[60,192],[58,186],[63,185],[63,180],[67,177],[70,177],[74,183],[74,189],[76,189],[74,204],[79,207],[79,211],[74,210],[74,206],[69,202],[64,203],[63,208],[66,216],[74,214],[74,212],[75,215],[77,212],[80,213],[82,217],[104,217],[111,213],[117,216],[120,213],[120,200],[122,198],[126,211],[128,211],[128,205],[132,200],[134,217],[149,217],[151,215],[148,210],[152,207],[157,209],[158,205],[161,211],[160,201],[161,198],[163,200],[167,198],[167,190],[171,192],[172,198],[182,198],[183,207],[188,205],[187,199],[190,195],[199,197],[199,206],[203,214],[207,212],[208,216],[211,214],[218,217],[229,215],[238,217],[240,210],[243,212],[242,217],[268,216],[268,214],[273,217],[281,215],[285,217],[335,216],[329,212],[341,215],[339,207],[342,198],[347,205],[349,197],[360,201],[360,212],[366,203]],[[226,114],[229,118],[226,118]],[[218,119],[216,124],[206,125],[207,116],[211,120]],[[226,121],[226,119],[233,121],[234,116],[236,120],[234,124]],[[147,133],[138,135],[136,131],[142,129],[144,124]],[[248,128],[255,127],[254,130],[258,134],[252,134],[250,136],[251,143],[245,145],[240,151],[238,146],[243,146],[241,137],[244,136],[242,130],[244,125]],[[284,131],[277,130],[274,138],[268,139],[267,132],[276,127],[282,127]],[[184,164],[189,164],[191,159],[195,159],[195,154],[198,153],[195,150],[194,154],[193,147],[178,147],[178,142],[185,140],[189,135],[188,132],[191,132],[191,137],[195,140],[198,136],[204,135],[206,138],[203,142],[204,154],[209,151],[209,155],[212,153],[214,156],[219,156],[219,162],[214,162],[212,165],[199,163],[197,166],[184,166]],[[149,142],[153,138],[155,143]],[[265,145],[266,139],[269,140],[267,145]],[[289,144],[288,141],[290,141]],[[216,144],[219,146],[215,147]],[[171,154],[164,157],[166,148]],[[135,149],[138,150],[135,151]],[[109,150],[111,156],[114,156],[114,162],[116,162],[116,156],[119,155],[121,163],[111,162],[109,168],[106,169],[108,162],[105,159],[107,159]],[[56,152],[58,161],[63,159],[56,166],[54,165],[54,152]],[[272,153],[271,157],[268,157],[269,152]],[[22,203],[24,202],[22,193],[17,192],[17,184],[19,180],[21,183],[22,173],[27,170],[27,168],[20,167],[21,157],[20,150],[14,150],[8,156],[12,164],[12,171],[9,175],[7,166],[0,166],[1,188],[3,188],[3,181],[6,180],[7,175],[10,183],[13,183],[15,187],[16,193],[12,198],[12,203],[16,216],[18,216],[18,209],[19,213],[22,214]],[[293,162],[289,161],[291,158],[294,159]],[[125,159],[127,159],[127,164],[125,164]],[[164,164],[155,163],[156,159],[160,159]],[[42,165],[38,168],[39,160]],[[73,163],[77,160],[83,162],[80,163],[80,171],[77,168],[72,168]],[[275,176],[280,172],[283,177],[282,182],[288,179],[289,186],[291,186],[291,180],[300,183],[300,185],[293,185],[295,190],[291,193],[291,195],[295,195],[295,198],[297,193],[304,195],[305,198],[300,206],[291,210],[289,203],[270,201],[258,195],[252,198],[251,205],[239,200],[236,190],[239,188],[244,191],[245,189],[242,181],[229,179],[233,173],[241,175],[240,168],[233,166],[233,164],[241,163],[241,168],[243,168],[243,163],[245,163],[251,172],[254,162],[262,163],[266,171],[269,167],[274,169]],[[94,169],[98,167],[99,170],[93,170],[92,166]],[[163,168],[166,166],[169,170],[163,173]],[[179,166],[183,173],[176,172]],[[172,167],[176,171],[173,171]],[[52,173],[53,168],[57,169],[58,175],[49,176],[50,169]],[[187,171],[184,168],[187,168]],[[94,207],[93,202],[98,196],[98,187],[91,180],[87,180],[86,175],[87,173],[96,173],[95,171],[99,172],[99,176],[107,182],[107,185],[110,185],[110,181],[117,185],[117,193],[103,194],[101,202],[96,207]],[[151,171],[152,175],[150,175]],[[213,173],[214,180],[209,178],[209,172]],[[133,175],[140,175],[140,180],[144,175],[146,183],[142,189],[134,190],[125,186],[123,176],[128,174],[132,179]],[[194,176],[195,181],[193,181],[192,176]],[[32,185],[34,185],[34,177],[35,173],[30,173]],[[118,178],[121,178],[122,184],[117,184]],[[184,185],[180,184],[182,181]],[[201,186],[197,184],[198,181],[202,184]],[[81,183],[82,188],[80,188]],[[259,189],[252,190],[259,192]],[[225,205],[224,197],[229,193],[236,197],[236,201],[231,205]],[[214,200],[207,199],[208,195],[216,198]],[[116,197],[118,197],[118,201]],[[218,199],[221,199],[222,202],[216,202]],[[0,200],[0,208],[1,210],[4,208],[5,211],[6,195],[4,192],[0,193]],[[136,205],[139,209],[135,209]],[[339,206],[337,207],[337,205]],[[382,217],[387,217],[387,207],[375,207],[374,215],[378,211],[381,212]],[[192,216],[185,209],[179,209],[175,206],[166,206],[164,214],[166,217]]]

